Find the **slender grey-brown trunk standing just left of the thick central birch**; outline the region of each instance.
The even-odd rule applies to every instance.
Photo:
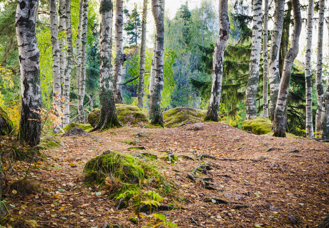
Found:
[[[141,43],[140,43],[139,82],[138,82],[138,107],[140,109],[143,109],[143,98],[144,98],[146,17],[147,17],[147,0],[144,0],[143,13],[142,13],[142,34],[141,34]]]

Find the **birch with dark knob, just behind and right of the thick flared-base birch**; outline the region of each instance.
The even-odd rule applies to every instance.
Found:
[[[123,0],[116,1],[115,8],[115,36],[114,36],[114,49],[115,49],[115,57],[114,57],[114,100],[115,103],[122,104],[122,96],[120,90],[120,83],[122,77],[122,66],[123,66],[123,49],[122,49],[122,41],[123,41]]]

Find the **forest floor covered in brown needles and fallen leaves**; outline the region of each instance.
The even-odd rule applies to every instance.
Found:
[[[22,221],[17,227],[25,227],[23,223],[39,227],[101,228],[106,223],[138,227],[130,221],[135,212],[132,207],[115,210],[117,201],[107,197],[106,188],[90,186],[90,190],[83,178],[86,162],[105,150],[139,152],[128,150],[131,145],[124,143],[126,140],[137,140],[136,146],[143,146],[145,152],[158,156],[155,162],[159,171],[173,183],[171,194],[162,195],[166,197],[163,204],[172,203],[177,208],[160,213],[179,227],[316,227],[327,215],[328,143],[253,135],[220,123],[199,125],[201,130],[198,131],[185,127],[124,127],[93,133],[100,138],[61,138],[66,147],[43,150],[47,158],[35,163],[31,170],[31,176],[44,193],[25,198],[9,197],[7,206],[12,212],[7,219]],[[150,134],[136,138],[136,132],[141,131]],[[270,147],[273,150],[265,152]],[[297,150],[288,152],[291,148]],[[193,161],[178,157],[175,164],[169,164],[162,158],[165,152],[161,151],[192,158],[208,154],[217,159]],[[200,182],[187,178],[188,172],[205,163],[209,163],[212,170],[203,176],[212,178],[212,187],[217,191],[205,189]],[[28,163],[15,165],[26,167]],[[188,200],[174,200],[170,198],[172,193],[176,198]],[[204,202],[207,197],[228,203]],[[237,204],[246,208],[236,207]],[[291,223],[289,213],[298,224]],[[142,224],[147,219],[144,218]]]

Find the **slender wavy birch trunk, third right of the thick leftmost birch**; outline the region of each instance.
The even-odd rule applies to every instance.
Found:
[[[73,63],[73,45],[72,45],[72,30],[71,30],[71,0],[65,0],[65,32],[66,32],[66,67],[64,71],[64,88],[63,97],[64,105],[63,109],[63,126],[66,126],[70,122],[70,76]]]

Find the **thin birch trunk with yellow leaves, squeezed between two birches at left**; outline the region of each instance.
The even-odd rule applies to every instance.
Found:
[[[64,71],[66,67],[65,59],[65,0],[59,0],[58,10],[58,32],[59,32],[59,48],[60,48],[60,74],[61,74],[61,96],[63,96],[64,88]]]

